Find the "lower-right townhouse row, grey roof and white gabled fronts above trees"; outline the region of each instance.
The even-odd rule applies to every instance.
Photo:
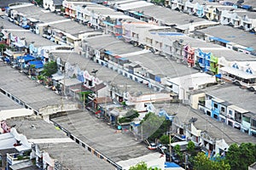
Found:
[[[180,141],[193,141],[209,157],[224,156],[230,144],[255,142],[253,136],[238,131],[223,122],[201,114],[188,105],[153,104],[156,111],[164,108],[172,116],[172,135]]]

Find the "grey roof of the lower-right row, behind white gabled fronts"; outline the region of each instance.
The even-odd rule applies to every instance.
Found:
[[[237,88],[237,87],[236,87]],[[156,109],[163,108],[169,115],[177,113],[177,122],[188,124],[189,120],[197,118],[194,126],[201,131],[207,131],[213,139],[224,139],[227,144],[256,143],[256,138],[242,133],[240,130],[225,125],[223,122],[215,121],[212,117],[201,111],[196,111],[182,104],[154,104]],[[175,118],[174,118],[175,119]],[[176,121],[175,121],[176,122]]]

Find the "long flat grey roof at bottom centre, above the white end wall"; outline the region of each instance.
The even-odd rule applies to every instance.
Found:
[[[131,138],[129,133],[115,133],[116,129],[109,128],[107,122],[102,122],[88,111],[67,114],[67,116],[54,118],[52,121],[65,127],[69,133],[114,162],[152,153],[146,145]]]

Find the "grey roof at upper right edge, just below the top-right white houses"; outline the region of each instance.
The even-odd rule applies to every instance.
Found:
[[[212,26],[199,30],[209,36],[219,37],[224,40],[235,42],[239,45],[256,50],[256,36],[247,31],[242,31],[231,26]]]

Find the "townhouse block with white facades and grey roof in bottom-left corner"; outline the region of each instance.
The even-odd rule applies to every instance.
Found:
[[[23,122],[23,123],[21,123]],[[86,169],[98,169],[107,167],[108,169],[114,169],[106,161],[97,159],[95,156],[91,156],[90,153],[85,152],[82,146],[79,146],[72,139],[63,135],[60,131],[55,129],[55,126],[44,122],[41,119],[25,119],[20,117],[20,120],[10,119],[7,124],[19,126],[17,130],[15,127],[11,128],[10,133],[0,134],[1,137],[5,136],[6,139],[1,140],[3,144],[13,138],[15,141],[15,152],[7,153],[7,166],[6,169],[15,168],[81,168]],[[22,132],[22,133],[20,133]],[[47,133],[46,133],[47,132]],[[9,135],[9,136],[7,136]],[[24,142],[26,141],[26,142]],[[12,144],[9,142],[9,144]],[[72,151],[69,153],[76,153],[78,156],[73,161],[61,161],[64,158],[63,147]],[[7,149],[6,147],[4,148]],[[67,156],[67,155],[65,155]],[[73,154],[68,157],[73,156]],[[82,159],[88,159],[90,161],[81,161]]]

